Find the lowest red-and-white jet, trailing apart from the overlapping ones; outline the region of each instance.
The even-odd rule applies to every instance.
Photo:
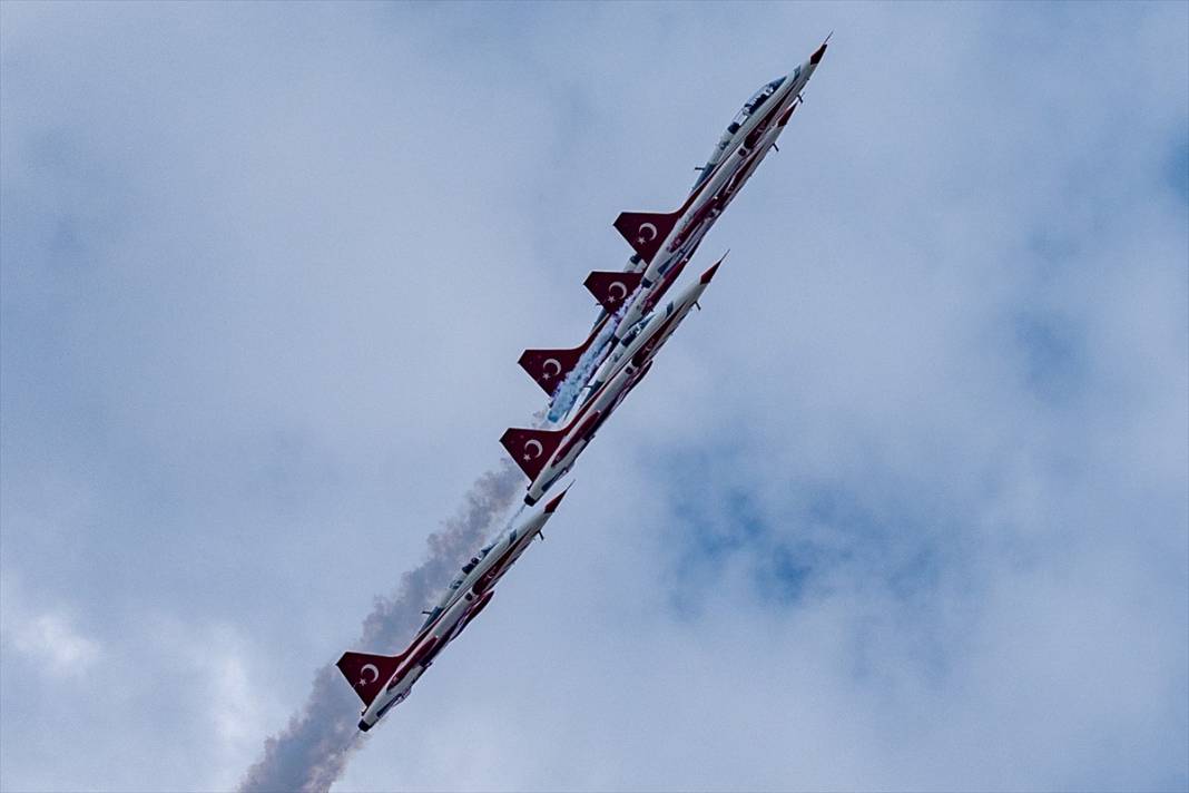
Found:
[[[424,624],[400,655],[344,653],[335,666],[364,703],[359,729],[366,732],[389,710],[408,698],[413,684],[438,654],[471,624],[496,593],[496,583],[520,559],[553,517],[565,491],[545,509],[497,539],[463,566],[426,618]]]

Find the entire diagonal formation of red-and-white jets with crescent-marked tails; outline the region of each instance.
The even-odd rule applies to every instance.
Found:
[[[545,426],[510,428],[499,439],[529,478],[533,508],[573,467],[599,427],[644,378],[653,359],[698,306],[723,259],[661,304],[715,221],[755,172],[801,102],[801,92],[825,55],[826,42],[789,74],[765,83],[743,105],[698,169],[685,202],[671,213],[624,212],[615,228],[635,253],[622,270],[594,271],[585,281],[600,306],[586,340],[571,350],[526,350],[520,365],[549,397]],[[700,307],[699,307],[700,308]],[[398,655],[345,653],[338,667],[364,703],[360,730],[409,696],[442,649],[491,600],[496,583],[541,536],[565,491],[482,548],[430,609]]]

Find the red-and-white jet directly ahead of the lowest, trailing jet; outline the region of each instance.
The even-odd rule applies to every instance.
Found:
[[[565,427],[560,429],[512,427],[501,436],[499,442],[531,480],[524,496],[526,504],[531,505],[540,501],[553,483],[570,471],[603,422],[648,373],[656,352],[690,309],[698,304],[698,298],[722,263],[719,259],[702,273],[697,283],[686,287],[668,306],[654,310],[636,323],[628,334],[627,353],[619,365],[604,382],[589,388],[585,401],[573,409]]]

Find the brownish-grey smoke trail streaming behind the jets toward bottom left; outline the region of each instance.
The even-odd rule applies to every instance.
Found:
[[[427,539],[426,561],[404,573],[391,596],[376,597],[354,647],[370,652],[400,647],[420,624],[421,610],[507,511],[520,483],[520,471],[507,461],[479,477],[458,514]],[[357,704],[333,662],[319,669],[304,707],[284,730],[265,739],[264,756],[247,769],[239,789],[328,791],[364,742],[356,728]]]

